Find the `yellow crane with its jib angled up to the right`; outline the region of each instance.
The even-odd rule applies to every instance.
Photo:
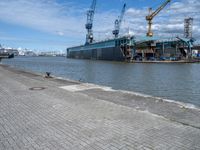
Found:
[[[148,21],[148,32],[147,36],[152,37],[153,32],[151,30],[152,20],[153,18],[170,2],[171,0],[166,0],[159,8],[157,8],[154,12],[152,12],[152,8],[149,8],[149,15],[146,16],[146,20]]]

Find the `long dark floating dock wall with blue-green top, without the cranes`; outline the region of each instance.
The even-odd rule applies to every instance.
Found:
[[[67,48],[68,58],[129,61],[134,53],[134,36]]]

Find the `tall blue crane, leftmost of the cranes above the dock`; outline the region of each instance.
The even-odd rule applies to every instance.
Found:
[[[93,26],[95,7],[96,7],[96,0],[93,0],[91,7],[87,11],[87,22],[85,24],[85,28],[87,29],[86,44],[89,44],[89,43],[93,42],[92,26]]]

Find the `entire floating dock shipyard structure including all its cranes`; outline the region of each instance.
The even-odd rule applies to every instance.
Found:
[[[87,11],[86,42],[80,46],[67,48],[67,57],[128,62],[200,62],[200,49],[194,49],[193,46],[195,41],[192,38],[193,18],[184,20],[184,37],[173,39],[153,37],[152,20],[170,1],[166,0],[155,11],[149,9],[149,14],[146,16],[148,30],[145,38],[137,39],[132,35],[119,36],[126,9],[126,4],[124,4],[119,18],[114,22],[113,38],[96,42],[92,30],[96,7],[96,0],[93,0]]]

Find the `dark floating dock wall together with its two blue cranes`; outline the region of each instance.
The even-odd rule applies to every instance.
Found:
[[[129,61],[134,53],[135,37],[131,35],[119,37],[121,22],[125,13],[126,4],[123,5],[121,15],[115,20],[114,38],[95,42],[93,40],[93,18],[96,0],[93,0],[87,11],[86,42],[84,45],[67,48],[68,58]]]

